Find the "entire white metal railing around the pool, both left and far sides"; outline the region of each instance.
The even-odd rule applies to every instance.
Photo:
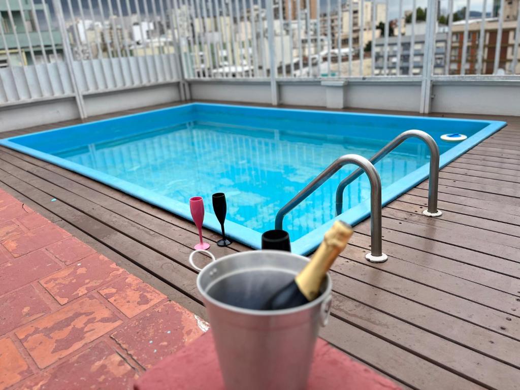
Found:
[[[520,74],[518,0],[3,0],[0,106],[190,80]],[[498,5],[498,7],[496,7]],[[430,12],[432,10],[432,12]],[[443,79],[444,78],[444,79]],[[183,88],[181,88],[181,91]]]

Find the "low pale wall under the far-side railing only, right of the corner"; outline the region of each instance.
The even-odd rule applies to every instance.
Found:
[[[434,77],[432,112],[520,115],[520,80],[445,79]],[[193,100],[271,103],[268,80],[190,81],[190,85]],[[277,85],[279,104],[328,107],[327,88],[330,87],[318,80],[280,80]],[[343,101],[339,105],[344,108],[411,112],[420,109],[420,77],[379,80],[355,77],[341,88]]]

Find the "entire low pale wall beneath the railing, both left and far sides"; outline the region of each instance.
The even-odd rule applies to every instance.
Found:
[[[271,103],[268,80],[191,81],[192,100]],[[330,84],[330,83],[329,83]],[[341,83],[339,83],[341,84]],[[327,88],[335,89],[334,94]],[[330,92],[330,90],[329,90]],[[339,93],[337,93],[339,92]],[[420,80],[352,79],[342,86],[320,81],[279,81],[279,103],[295,106],[345,107],[419,112]],[[436,80],[432,111],[520,115],[520,80]],[[337,99],[332,102],[330,97]],[[88,116],[180,101],[179,83],[165,83],[84,94]],[[70,95],[0,105],[0,132],[80,118]]]

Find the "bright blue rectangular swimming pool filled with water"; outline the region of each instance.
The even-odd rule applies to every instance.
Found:
[[[202,196],[204,225],[219,232],[211,195],[225,192],[226,232],[259,248],[285,203],[343,154],[370,158],[408,129],[430,134],[446,165],[505,122],[419,116],[190,103],[8,138],[0,144],[99,180],[191,219],[188,200]],[[462,142],[440,139],[447,133]],[[409,139],[375,164],[383,204],[428,174],[429,151]],[[335,190],[355,170],[347,165],[284,218],[293,252],[313,250],[335,218],[356,224],[370,213],[370,185],[362,175],[345,190],[335,216]]]

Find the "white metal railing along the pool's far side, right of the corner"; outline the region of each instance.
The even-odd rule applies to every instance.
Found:
[[[211,2],[187,1],[193,10],[179,12],[194,27],[178,35],[187,37],[181,50],[193,79],[417,76],[428,61],[433,76],[520,74],[517,0],[498,9],[486,0],[327,0],[325,9],[316,0],[216,0],[214,16],[204,11]],[[209,37],[217,37],[217,53]],[[222,63],[211,63],[222,53]]]

